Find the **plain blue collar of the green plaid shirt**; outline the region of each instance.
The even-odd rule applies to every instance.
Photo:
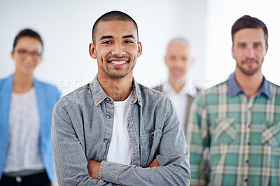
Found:
[[[235,79],[235,73],[232,73],[230,75],[230,78],[228,79],[228,89],[229,96],[235,96],[239,93],[244,93],[244,91],[239,87],[237,80]],[[262,86],[260,87],[258,94],[256,94],[255,96],[259,96],[260,94],[265,94],[268,99],[271,98],[269,81],[265,79],[265,76],[263,76]]]

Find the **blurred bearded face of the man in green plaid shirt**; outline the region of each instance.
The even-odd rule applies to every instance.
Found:
[[[232,57],[237,69],[247,76],[260,71],[267,49],[262,29],[240,29],[233,36]]]

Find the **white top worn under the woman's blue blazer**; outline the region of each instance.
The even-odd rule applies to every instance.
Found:
[[[40,117],[35,89],[12,93],[9,116],[9,146],[3,173],[44,169],[39,150]]]

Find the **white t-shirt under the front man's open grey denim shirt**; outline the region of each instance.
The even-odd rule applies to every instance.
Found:
[[[130,165],[132,150],[127,131],[127,117],[132,103],[132,93],[125,101],[114,101],[113,134],[107,155],[108,162]]]

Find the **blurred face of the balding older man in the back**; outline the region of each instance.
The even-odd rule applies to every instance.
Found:
[[[190,47],[183,41],[173,41],[167,47],[165,64],[169,69],[169,78],[181,80],[186,75],[190,64]]]

